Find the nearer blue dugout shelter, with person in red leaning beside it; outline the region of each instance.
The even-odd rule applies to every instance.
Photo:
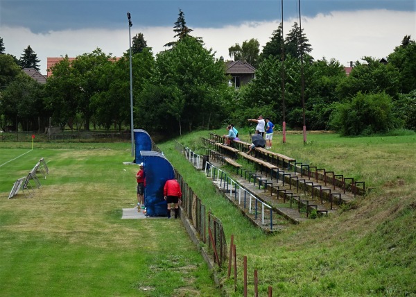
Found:
[[[175,178],[171,162],[162,153],[155,151],[140,151],[146,174],[146,189],[144,199],[146,215],[150,217],[166,216],[167,204],[164,200],[163,188],[166,180]]]

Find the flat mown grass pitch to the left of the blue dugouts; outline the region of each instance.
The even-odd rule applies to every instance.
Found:
[[[129,143],[1,143],[1,296],[219,296],[180,220],[121,220],[137,203]],[[31,198],[12,184],[40,158]],[[34,185],[34,184],[33,184]]]

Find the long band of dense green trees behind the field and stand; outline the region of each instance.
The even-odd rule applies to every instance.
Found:
[[[133,37],[135,128],[180,135],[184,131],[218,128],[230,122],[247,126],[246,119],[259,114],[269,117],[277,126],[285,121],[288,130],[302,129],[305,118],[307,130],[336,128],[343,135],[415,127],[416,43],[410,35],[404,37],[387,59],[363,57],[363,61],[356,61],[347,76],[337,60],[324,57],[316,60],[309,55],[312,46],[296,23],[285,38],[279,24],[262,53],[254,39],[246,40],[243,46],[235,44],[229,48],[230,56],[257,67],[248,85],[234,89],[227,87],[223,61],[216,60],[199,37],[190,35],[193,30],[187,26],[182,10],[173,31],[176,40],[168,42],[168,49],[155,56],[143,34]],[[2,130],[6,126],[33,129],[35,117],[38,130],[49,123],[49,117],[53,126],[62,129],[130,129],[128,52],[116,59],[98,48],[71,62],[64,58],[53,66],[45,92],[39,92],[42,87],[34,84],[22,87],[25,94],[36,96],[25,97],[24,92],[8,90],[9,87],[16,89],[17,84],[12,82],[20,80],[17,79],[18,63],[8,54],[0,55]],[[351,105],[357,94],[369,98],[390,96],[390,110],[395,117],[390,126],[368,123],[376,117],[356,117],[354,114],[361,111],[345,109],[357,107]],[[12,112],[17,110],[17,103],[20,115]],[[33,106],[35,110],[28,110]],[[341,107],[344,112],[340,112]],[[347,117],[348,113],[352,115]],[[24,119],[26,115],[30,119]],[[354,128],[348,127],[345,126],[349,123],[347,118],[361,122]]]

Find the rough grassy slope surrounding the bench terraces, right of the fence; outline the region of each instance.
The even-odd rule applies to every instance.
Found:
[[[200,136],[208,133],[193,133],[178,141],[205,153]],[[268,237],[221,201],[204,177],[177,155],[172,142],[160,146],[207,207],[222,219],[227,241],[235,236],[239,284],[242,257],[247,255],[249,282],[252,271],[258,269],[262,295],[272,285],[274,296],[416,296],[415,135],[343,138],[311,134],[306,145],[302,135],[288,135],[286,144],[281,144],[281,135],[274,140],[274,151],[364,180],[372,191],[358,198],[352,210]],[[225,287],[232,296],[241,294],[241,285],[234,294],[233,280],[225,282]]]

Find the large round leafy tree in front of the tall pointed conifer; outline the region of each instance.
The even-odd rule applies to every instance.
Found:
[[[192,130],[220,121],[221,90],[226,88],[224,63],[187,36],[170,51],[157,54],[154,76],[140,95],[139,108],[150,110],[146,117],[154,117],[151,111],[157,108],[164,114],[156,119],[160,129],[181,134],[182,127]]]

